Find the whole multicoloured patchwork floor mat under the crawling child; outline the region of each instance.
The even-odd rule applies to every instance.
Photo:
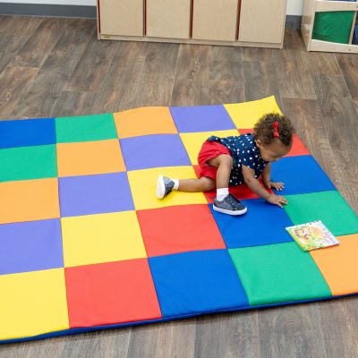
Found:
[[[157,176],[195,177],[210,135],[251,132],[274,97],[0,122],[0,340],[10,342],[358,293],[358,219],[295,136],[243,217],[215,192],[157,200]],[[286,226],[322,220],[341,242],[303,252]]]

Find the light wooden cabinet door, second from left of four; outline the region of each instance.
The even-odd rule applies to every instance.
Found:
[[[191,0],[147,0],[147,36],[189,38]]]

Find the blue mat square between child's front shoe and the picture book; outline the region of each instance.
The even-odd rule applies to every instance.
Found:
[[[242,202],[247,212],[240,217],[219,213],[210,205],[228,249],[293,241],[285,229],[294,224],[284,209],[263,199]]]

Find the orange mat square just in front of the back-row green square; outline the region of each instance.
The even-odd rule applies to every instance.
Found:
[[[57,143],[58,176],[124,172],[118,140]]]

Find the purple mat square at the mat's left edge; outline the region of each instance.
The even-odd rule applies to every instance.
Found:
[[[64,267],[59,219],[0,226],[0,275]]]

